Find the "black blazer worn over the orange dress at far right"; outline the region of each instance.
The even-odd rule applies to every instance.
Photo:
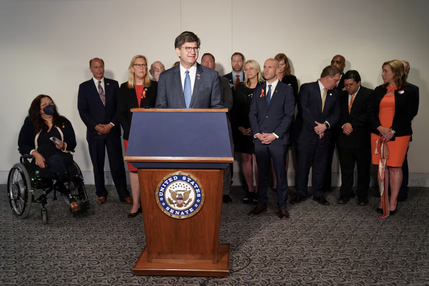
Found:
[[[375,87],[373,96],[372,108],[372,133],[380,134],[377,127],[381,125],[378,118],[378,111],[380,109],[380,102],[386,95],[387,88],[383,85]],[[395,115],[393,116],[392,126],[384,126],[395,130],[395,137],[406,136],[413,134],[411,129],[411,120],[417,115],[419,109],[419,88],[413,84],[408,84],[405,88],[395,90]]]

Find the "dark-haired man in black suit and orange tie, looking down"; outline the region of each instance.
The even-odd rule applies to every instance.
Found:
[[[349,70],[342,76],[345,90],[340,93],[341,117],[338,135],[338,159],[341,167],[341,187],[338,204],[344,205],[353,193],[354,166],[357,165],[357,204],[368,205],[371,166],[372,92],[360,85],[359,72]]]

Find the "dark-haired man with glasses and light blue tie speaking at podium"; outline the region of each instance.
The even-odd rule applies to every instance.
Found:
[[[175,39],[180,64],[160,74],[156,108],[223,108],[219,74],[198,59],[201,41],[192,32]]]

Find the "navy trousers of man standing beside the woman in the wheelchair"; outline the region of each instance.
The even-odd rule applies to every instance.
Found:
[[[95,194],[98,197],[107,196],[107,190],[104,186],[104,159],[107,149],[110,172],[119,199],[129,197],[130,192],[127,190],[124,158],[122,157],[121,137],[109,136],[106,139],[88,141],[88,146],[92,166],[94,168]]]

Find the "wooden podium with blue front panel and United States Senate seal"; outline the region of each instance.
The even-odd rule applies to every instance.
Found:
[[[137,168],[146,246],[136,275],[225,277],[219,244],[224,168],[233,162],[227,109],[133,108],[125,161]]]

